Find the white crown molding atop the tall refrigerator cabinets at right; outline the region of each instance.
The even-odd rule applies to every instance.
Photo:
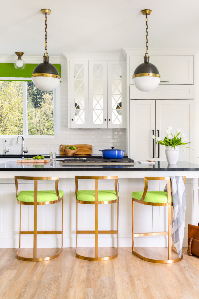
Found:
[[[198,48],[150,48],[149,56],[151,55],[196,55]],[[127,56],[144,56],[144,48],[123,48],[122,54]]]

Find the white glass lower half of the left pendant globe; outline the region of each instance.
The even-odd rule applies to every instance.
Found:
[[[53,77],[32,77],[34,85],[41,91],[52,91],[59,85],[59,79]]]

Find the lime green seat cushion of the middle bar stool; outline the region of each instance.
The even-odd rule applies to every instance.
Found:
[[[119,196],[119,193],[118,193],[118,196]],[[94,202],[95,201],[95,190],[78,190],[77,191],[77,199],[86,201],[86,202]],[[100,191],[98,191],[98,201],[99,202],[115,200],[115,199],[117,199],[115,190],[100,190]]]

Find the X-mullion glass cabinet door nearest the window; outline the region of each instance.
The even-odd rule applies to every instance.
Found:
[[[70,60],[70,127],[89,127],[88,60]]]

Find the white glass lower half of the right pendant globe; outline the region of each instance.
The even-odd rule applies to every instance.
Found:
[[[160,83],[160,78],[158,77],[136,77],[133,78],[133,83],[135,87],[141,91],[152,91]]]

